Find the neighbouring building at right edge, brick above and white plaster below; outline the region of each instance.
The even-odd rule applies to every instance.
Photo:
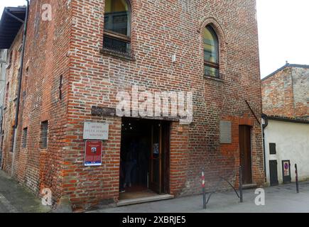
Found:
[[[262,79],[266,179],[270,185],[309,177],[309,66],[286,64]]]

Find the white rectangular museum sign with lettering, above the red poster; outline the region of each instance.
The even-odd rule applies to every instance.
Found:
[[[84,140],[108,140],[109,124],[108,123],[84,123]]]

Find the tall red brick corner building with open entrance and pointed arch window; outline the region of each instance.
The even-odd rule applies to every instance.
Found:
[[[7,73],[3,167],[33,192],[48,188],[75,208],[136,192],[199,194],[203,167],[212,189],[219,177],[237,184],[239,165],[244,184],[264,184],[254,0],[33,0],[27,24],[17,99]],[[22,33],[1,48],[18,54]],[[193,92],[193,122],[117,116],[117,94],[133,86]],[[85,122],[108,124],[102,165],[85,166]]]

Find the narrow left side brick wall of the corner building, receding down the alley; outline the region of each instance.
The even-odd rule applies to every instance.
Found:
[[[42,21],[42,4],[51,4],[52,21]],[[70,8],[67,8],[67,1],[31,1],[14,153],[13,176],[35,194],[40,194],[40,189],[50,188],[54,201],[60,198],[63,191],[70,21]],[[18,36],[19,43],[21,43],[21,32]],[[16,45],[13,44],[13,47]],[[60,75],[63,75],[62,100],[59,99]],[[11,117],[14,115],[11,114]],[[45,150],[40,149],[42,121],[48,121],[49,125],[48,149]],[[4,124],[9,126],[8,121]],[[21,148],[22,131],[26,127],[28,127],[27,148]],[[6,133],[6,137],[8,136],[9,134]],[[5,144],[4,169],[9,172],[12,155],[8,153],[8,140]]]

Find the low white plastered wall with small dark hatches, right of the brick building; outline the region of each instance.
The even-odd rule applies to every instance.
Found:
[[[267,183],[271,186],[309,179],[309,121],[269,116],[265,135]]]

